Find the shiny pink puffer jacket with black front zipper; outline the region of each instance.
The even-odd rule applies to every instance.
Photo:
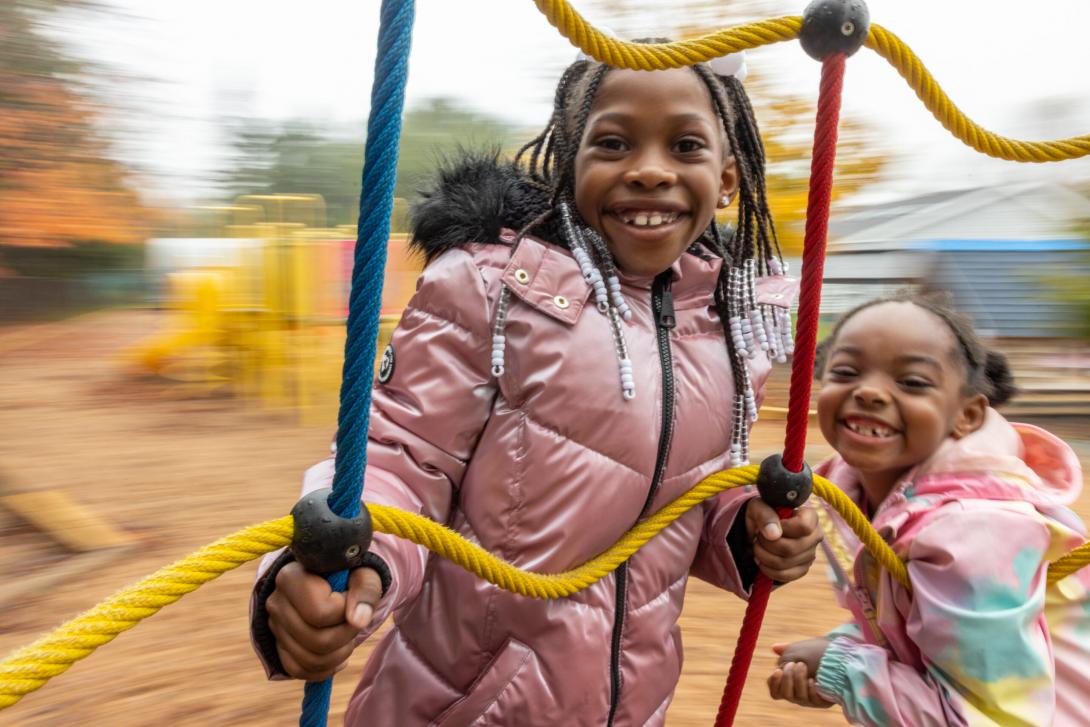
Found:
[[[637,388],[626,401],[608,322],[574,259],[533,238],[512,255],[512,240],[504,231],[500,244],[449,250],[421,277],[393,334],[392,372],[374,391],[364,500],[421,512],[521,568],[556,572],[729,467],[734,385],[711,307],[720,260],[682,255],[661,277],[673,279],[668,293],[623,280]],[[497,380],[491,326],[501,281],[513,294]],[[786,296],[771,288],[762,302]],[[663,295],[673,298],[673,328],[656,325],[652,299]],[[763,355],[751,361],[758,391],[768,369]],[[331,470],[329,461],[313,469],[307,488],[327,485]],[[396,626],[367,663],[347,724],[664,724],[690,573],[747,595],[727,536],[751,496],[705,501],[614,575],[558,601],[513,595],[376,535],[372,552],[392,578],[368,633],[391,614]]]

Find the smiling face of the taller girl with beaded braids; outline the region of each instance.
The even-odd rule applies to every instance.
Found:
[[[737,186],[711,93],[692,70],[606,74],[576,156],[576,207],[622,270],[667,269]]]

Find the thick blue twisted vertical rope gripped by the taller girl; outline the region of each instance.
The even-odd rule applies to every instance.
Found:
[[[360,513],[363,472],[367,463],[371,381],[383,305],[383,274],[390,238],[413,14],[413,0],[383,0],[364,147],[352,292],[348,304],[348,338],[337,416],[336,474],[329,495],[330,509],[342,518]],[[328,580],[335,591],[343,591],[348,585],[348,572],[334,573]],[[332,678],[306,684],[303,712],[299,717],[301,727],[325,727],[332,684]]]

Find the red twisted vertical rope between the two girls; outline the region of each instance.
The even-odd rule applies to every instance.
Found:
[[[836,128],[840,120],[840,89],[844,86],[845,60],[844,53],[835,53],[822,62],[821,69],[818,124],[814,128],[814,150],[810,162],[807,231],[802,243],[799,318],[795,334],[791,388],[787,402],[787,434],[784,440],[784,464],[792,472],[802,470],[803,451],[807,446],[810,383],[813,380],[814,353],[818,348],[818,312],[821,306],[821,281],[825,269],[825,234],[828,230],[828,207],[833,193]],[[779,512],[780,518],[790,514],[790,510]],[[727,675],[727,686],[723,690],[715,727],[730,727],[735,722],[771,592],[772,581],[764,573],[758,573],[753,593],[746,607],[741,633],[738,634],[738,645],[730,663],[730,673]]]

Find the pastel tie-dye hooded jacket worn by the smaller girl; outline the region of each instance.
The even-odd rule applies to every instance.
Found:
[[[816,472],[862,502],[843,460]],[[1086,541],[1065,507],[1081,488],[1066,444],[989,410],[980,431],[948,439],[873,514],[907,561],[911,593],[819,508],[853,615],[829,634],[819,691],[867,726],[1090,725],[1090,568],[1046,584],[1049,561]]]

